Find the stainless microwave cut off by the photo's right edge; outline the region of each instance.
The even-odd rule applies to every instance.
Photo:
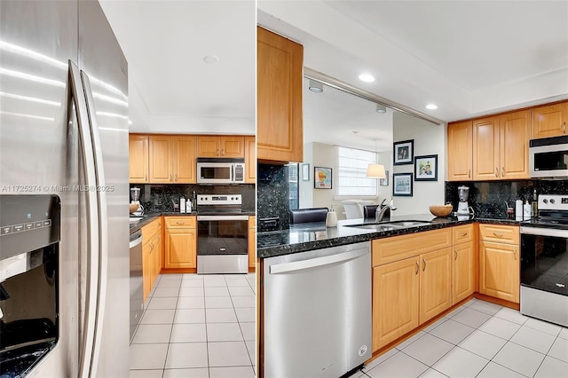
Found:
[[[529,141],[531,177],[568,177],[568,136]]]

